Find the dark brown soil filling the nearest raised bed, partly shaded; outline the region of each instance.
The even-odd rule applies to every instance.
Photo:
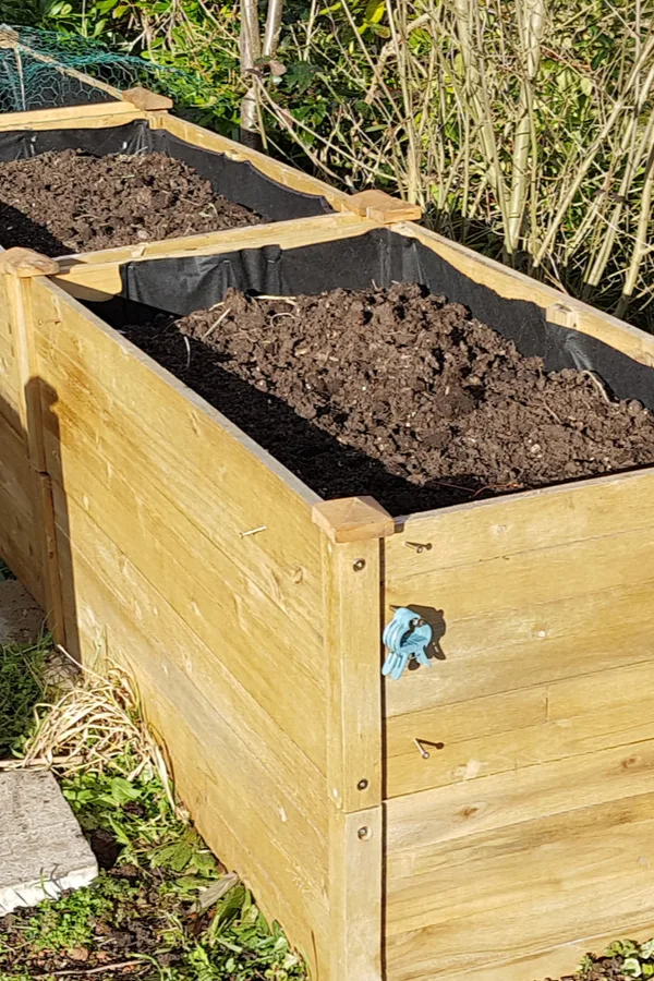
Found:
[[[391,512],[654,461],[654,423],[412,284],[223,302],[125,331],[325,497]]]

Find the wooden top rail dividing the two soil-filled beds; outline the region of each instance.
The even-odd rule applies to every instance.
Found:
[[[53,281],[72,296],[85,301],[101,301],[122,290],[120,267],[123,263],[144,262],[158,257],[180,258],[187,255],[213,255],[238,252],[241,249],[279,245],[296,249],[301,245],[328,242],[334,238],[348,239],[365,234],[377,226],[355,216],[324,215],[298,221],[228,229],[208,234],[166,239],[142,245],[125,245],[58,259],[59,275]]]

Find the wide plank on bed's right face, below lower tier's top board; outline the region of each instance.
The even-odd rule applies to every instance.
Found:
[[[651,920],[653,832],[647,792],[446,845],[415,843],[409,874],[389,845],[389,981],[450,977]]]

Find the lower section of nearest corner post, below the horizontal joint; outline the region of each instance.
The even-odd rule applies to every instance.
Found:
[[[329,822],[330,981],[383,981],[382,807]]]

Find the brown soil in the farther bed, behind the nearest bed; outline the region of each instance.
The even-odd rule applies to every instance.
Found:
[[[45,255],[257,225],[166,154],[47,153],[0,164],[0,245]]]

